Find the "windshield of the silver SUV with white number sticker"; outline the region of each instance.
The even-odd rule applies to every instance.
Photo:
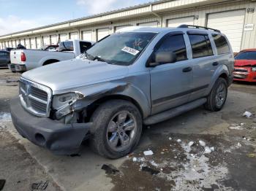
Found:
[[[87,50],[86,58],[128,66],[138,58],[154,36],[155,33],[146,32],[113,34]]]

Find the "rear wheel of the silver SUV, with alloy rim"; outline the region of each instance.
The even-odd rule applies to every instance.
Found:
[[[227,100],[227,81],[220,77],[214,84],[211,93],[207,97],[207,102],[204,104],[205,108],[218,112],[225,105]]]

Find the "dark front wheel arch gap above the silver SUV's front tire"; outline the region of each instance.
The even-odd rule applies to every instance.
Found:
[[[95,112],[95,110],[99,107],[99,105],[110,100],[129,101],[139,109],[141,116],[143,116],[143,110],[141,109],[140,104],[138,104],[138,102],[135,101],[135,99],[130,98],[129,96],[126,96],[126,95],[108,95],[103,98],[99,98],[93,103],[89,104],[89,106],[86,106],[86,109],[84,109],[81,112],[80,117],[83,117],[84,122],[89,122],[91,120],[91,115]]]

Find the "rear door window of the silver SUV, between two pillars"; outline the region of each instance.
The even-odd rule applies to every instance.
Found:
[[[189,40],[192,47],[193,58],[214,55],[210,39],[203,34],[189,34]]]

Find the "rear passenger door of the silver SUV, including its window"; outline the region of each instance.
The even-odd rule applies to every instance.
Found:
[[[219,63],[215,60],[208,33],[189,31],[192,47],[193,89],[189,101],[206,95],[211,79]]]

